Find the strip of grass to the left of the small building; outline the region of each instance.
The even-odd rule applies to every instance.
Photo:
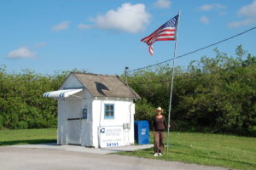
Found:
[[[0,130],[0,145],[56,142],[57,129]]]

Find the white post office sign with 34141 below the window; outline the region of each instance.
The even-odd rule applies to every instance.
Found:
[[[99,133],[101,148],[125,145],[123,127],[100,127]]]

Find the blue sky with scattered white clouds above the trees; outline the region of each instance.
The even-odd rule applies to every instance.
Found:
[[[9,73],[42,74],[77,68],[122,74],[172,59],[174,42],[155,42],[154,56],[140,42],[181,10],[177,55],[218,42],[256,26],[255,0],[1,0],[0,65]],[[256,31],[219,44],[235,55],[237,45],[256,54]],[[212,56],[212,49],[177,59]]]

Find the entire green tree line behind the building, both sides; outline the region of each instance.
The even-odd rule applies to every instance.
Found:
[[[68,74],[7,73],[2,65],[0,129],[56,127],[57,103],[43,94],[60,88]],[[136,101],[135,119],[151,122],[158,106],[167,117],[171,74],[172,68],[165,64],[127,77],[129,86],[142,96]],[[125,75],[120,77],[125,80]],[[256,57],[240,45],[236,56],[216,48],[213,57],[175,67],[171,122],[174,130],[251,132],[256,126]]]

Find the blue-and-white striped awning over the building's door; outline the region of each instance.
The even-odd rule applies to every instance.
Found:
[[[83,88],[79,89],[67,89],[67,90],[57,90],[52,92],[44,93],[44,98],[67,98],[70,95],[77,94],[81,92]]]

